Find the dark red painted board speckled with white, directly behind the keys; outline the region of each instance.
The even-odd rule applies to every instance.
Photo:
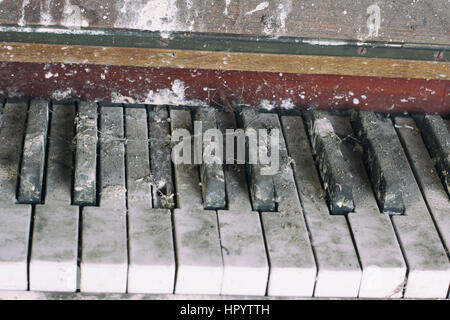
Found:
[[[184,85],[184,97],[169,91],[174,83],[178,84],[177,93],[183,93],[180,88]],[[158,92],[169,93],[177,103],[450,114],[450,81],[445,80],[0,63],[0,97],[4,98],[64,97],[110,102],[114,97],[123,96],[133,100],[120,102],[149,103],[151,100],[147,98],[152,94],[155,97]]]

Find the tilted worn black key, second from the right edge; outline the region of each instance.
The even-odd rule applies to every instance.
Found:
[[[390,119],[369,111],[354,112],[351,117],[353,131],[364,148],[363,158],[369,172],[372,187],[378,200],[380,210],[385,213],[402,214],[405,210],[401,180],[396,159],[390,155],[396,154],[397,139],[395,131],[384,130],[383,126]],[[392,127],[392,126],[391,126]]]

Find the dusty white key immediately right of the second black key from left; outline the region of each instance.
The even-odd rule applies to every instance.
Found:
[[[125,292],[128,258],[121,107],[101,107],[100,132],[100,207],[83,208],[80,290]]]

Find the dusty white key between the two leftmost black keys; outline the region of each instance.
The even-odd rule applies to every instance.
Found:
[[[44,205],[35,208],[30,290],[77,289],[78,207],[70,205],[74,105],[54,105]]]

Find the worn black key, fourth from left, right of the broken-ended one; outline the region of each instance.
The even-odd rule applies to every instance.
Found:
[[[213,108],[198,108],[195,114],[195,120],[201,123],[201,132],[203,141],[201,146],[196,148],[197,156],[202,159],[200,165],[200,179],[202,183],[202,196],[205,209],[225,209],[225,177],[222,167],[222,154],[211,154],[214,145],[222,146],[222,141],[217,141],[222,137],[205,136],[209,129],[217,129],[216,110]],[[217,150],[215,150],[217,151]],[[205,158],[207,153],[207,158]]]

